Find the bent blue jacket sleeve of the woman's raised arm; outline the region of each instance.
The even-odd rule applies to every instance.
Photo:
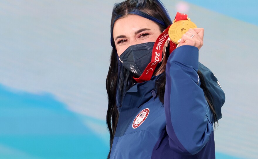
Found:
[[[198,48],[184,45],[169,56],[164,107],[169,145],[177,153],[194,155],[208,142],[213,115],[200,87]]]

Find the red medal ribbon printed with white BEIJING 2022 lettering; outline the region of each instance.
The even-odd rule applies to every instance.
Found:
[[[187,14],[177,12],[175,21],[180,21],[180,20],[187,20]],[[168,35],[169,27],[167,27],[167,29],[163,31],[163,33],[161,33],[157,38],[157,40],[155,41],[155,44],[152,50],[151,62],[145,68],[142,75],[139,78],[133,77],[133,79],[135,79],[136,82],[141,83],[144,81],[149,81],[154,73],[155,68],[157,67],[157,63],[162,61],[162,50],[167,39],[169,38],[169,35]],[[171,40],[169,41],[169,44],[170,44],[169,52],[172,53],[172,51],[176,48],[176,44],[173,43]],[[164,56],[165,56],[165,53],[164,53]]]

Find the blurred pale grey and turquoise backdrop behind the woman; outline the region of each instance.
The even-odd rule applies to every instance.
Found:
[[[0,0],[0,158],[102,159],[118,0]],[[200,61],[226,94],[216,158],[258,158],[258,2],[163,0],[205,29]]]

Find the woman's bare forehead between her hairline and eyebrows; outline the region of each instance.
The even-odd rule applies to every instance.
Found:
[[[150,28],[151,30],[159,29],[159,26],[142,16],[130,14],[123,18],[116,20],[113,27],[113,36],[118,34],[133,34],[141,28]]]

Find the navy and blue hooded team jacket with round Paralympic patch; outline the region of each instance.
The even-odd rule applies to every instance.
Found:
[[[200,87],[205,76],[218,119],[225,102],[216,77],[198,62],[198,48],[184,45],[169,56],[164,104],[155,97],[156,76],[123,98],[111,159],[213,159],[213,115]]]

